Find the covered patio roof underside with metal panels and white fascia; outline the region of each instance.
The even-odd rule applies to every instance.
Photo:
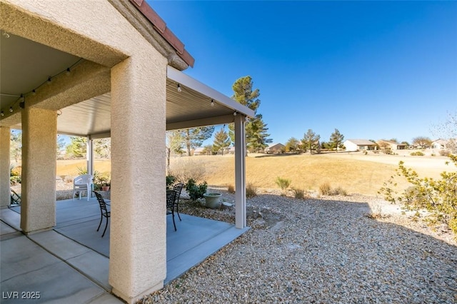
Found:
[[[49,78],[52,85],[55,78],[66,77],[85,60],[4,31],[0,39],[0,107],[3,112],[0,126],[20,129],[21,95],[27,102],[35,92],[48,86]],[[29,64],[24,64],[27,62]],[[236,113],[254,115],[246,106],[168,66],[167,130],[231,123]],[[58,133],[91,138],[110,136],[111,93],[59,108],[59,114]]]

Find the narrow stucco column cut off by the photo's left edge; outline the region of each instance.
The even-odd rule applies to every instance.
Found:
[[[0,207],[5,208],[10,203],[9,193],[9,144],[10,128],[0,127]]]

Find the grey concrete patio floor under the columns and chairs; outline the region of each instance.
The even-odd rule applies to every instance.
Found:
[[[30,303],[21,292],[39,292],[40,303],[121,303],[110,294],[110,230],[104,238],[104,223],[96,231],[100,209],[95,198],[57,201],[56,227],[32,235],[19,232],[20,207],[1,209],[0,215],[1,303]],[[186,214],[181,218],[175,216],[174,231],[171,216],[166,217],[164,284],[248,230]]]

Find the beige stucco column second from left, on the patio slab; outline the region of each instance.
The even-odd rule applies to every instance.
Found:
[[[56,111],[22,110],[21,229],[38,232],[56,225]]]

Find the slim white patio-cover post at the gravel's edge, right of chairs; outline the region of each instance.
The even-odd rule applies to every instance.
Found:
[[[246,227],[246,117],[235,116],[235,226]]]

